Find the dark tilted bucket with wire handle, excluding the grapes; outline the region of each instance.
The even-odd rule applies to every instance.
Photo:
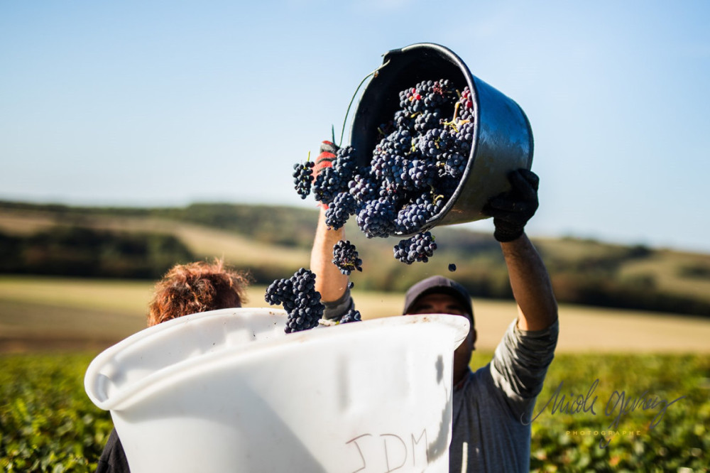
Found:
[[[469,86],[474,101],[474,138],[457,189],[442,210],[420,229],[485,219],[488,199],[510,189],[507,174],[532,165],[532,129],[520,106],[471,74],[448,48],[417,43],[391,50],[368,83],[354,114],[350,144],[360,165],[368,165],[380,140],[378,126],[399,109],[398,93],[422,80],[449,79],[457,89]]]

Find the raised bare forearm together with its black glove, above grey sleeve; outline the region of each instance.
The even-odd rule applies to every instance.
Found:
[[[510,287],[518,303],[518,328],[543,330],[557,320],[557,300],[545,264],[524,232],[537,210],[540,181],[526,169],[513,171],[508,180],[510,191],[489,200],[484,212],[493,217],[493,235],[501,242],[506,259]]]

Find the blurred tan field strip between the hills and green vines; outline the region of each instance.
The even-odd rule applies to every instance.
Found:
[[[146,327],[153,283],[0,276],[0,352],[102,349]],[[267,307],[265,288],[249,307]],[[398,315],[402,295],[354,290],[365,319]],[[477,347],[491,350],[516,316],[508,301],[474,300]],[[562,305],[559,352],[710,353],[710,320]]]

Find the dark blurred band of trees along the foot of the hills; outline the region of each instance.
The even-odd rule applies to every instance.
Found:
[[[474,297],[510,299],[512,293],[505,263],[495,254],[495,246],[491,249],[481,243],[478,259],[461,256],[455,261],[466,261],[466,264],[459,264],[457,272],[449,276],[466,286]],[[372,249],[365,250],[364,258],[376,261],[377,267],[356,275],[359,289],[403,291],[430,273],[430,267],[425,264],[403,265],[393,258],[382,258]],[[170,234],[73,226],[55,227],[26,237],[0,233],[0,273],[157,279],[173,264],[196,259],[199,258],[185,244]],[[607,264],[613,266],[618,262]],[[707,301],[665,293],[649,278],[618,281],[610,276],[610,268],[603,270],[602,262],[594,266],[594,272],[584,271],[587,267],[584,264],[581,270],[554,260],[550,266],[552,285],[560,302],[710,315]],[[271,283],[297,270],[273,265],[241,269],[248,270],[258,284]]]

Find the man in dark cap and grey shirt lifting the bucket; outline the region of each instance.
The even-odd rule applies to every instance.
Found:
[[[537,210],[537,175],[520,169],[511,172],[508,180],[510,191],[491,198],[484,212],[493,217],[493,235],[501,243],[518,317],[511,321],[491,362],[476,371],[469,367],[476,328],[464,286],[432,276],[405,295],[403,315],[444,313],[469,317],[471,322],[468,337],[454,352],[450,472],[530,470],[532,410],[557,345],[557,301],[550,277],[524,232]],[[354,308],[348,277],[332,263],[333,246],[342,239],[344,229],[329,229],[322,209],[310,267],[326,305],[324,317],[334,320]]]

